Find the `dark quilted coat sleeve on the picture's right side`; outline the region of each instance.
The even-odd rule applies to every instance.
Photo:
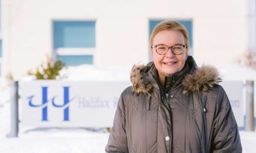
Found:
[[[216,100],[213,153],[242,153],[237,123],[229,99],[221,86]]]

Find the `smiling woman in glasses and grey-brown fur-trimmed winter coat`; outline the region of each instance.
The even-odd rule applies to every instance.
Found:
[[[150,47],[153,62],[131,70],[132,87],[119,99],[106,152],[242,153],[218,72],[188,56],[186,29],[164,21]]]

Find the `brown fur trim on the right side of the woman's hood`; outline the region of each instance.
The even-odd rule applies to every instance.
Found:
[[[218,70],[212,66],[202,66],[194,74],[188,74],[182,82],[183,94],[188,92],[209,92],[210,88],[221,82]]]

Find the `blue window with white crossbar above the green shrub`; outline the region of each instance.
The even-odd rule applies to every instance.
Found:
[[[54,21],[55,58],[68,66],[93,64],[95,54],[95,21]]]

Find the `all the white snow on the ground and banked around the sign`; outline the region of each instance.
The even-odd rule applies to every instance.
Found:
[[[255,78],[256,72],[239,65],[213,65],[225,80]],[[243,75],[237,75],[237,72]],[[60,72],[62,80],[128,81],[130,68],[97,68],[91,65],[68,67]],[[234,75],[236,74],[236,75]],[[235,76],[235,78],[234,78]],[[25,76],[22,80],[34,80]],[[60,78],[59,78],[60,79]],[[1,84],[0,84],[1,85]],[[109,133],[106,128],[40,128],[20,124],[19,137],[10,138],[10,88],[0,87],[0,153],[105,153]],[[255,153],[256,131],[240,131],[244,153]]]

